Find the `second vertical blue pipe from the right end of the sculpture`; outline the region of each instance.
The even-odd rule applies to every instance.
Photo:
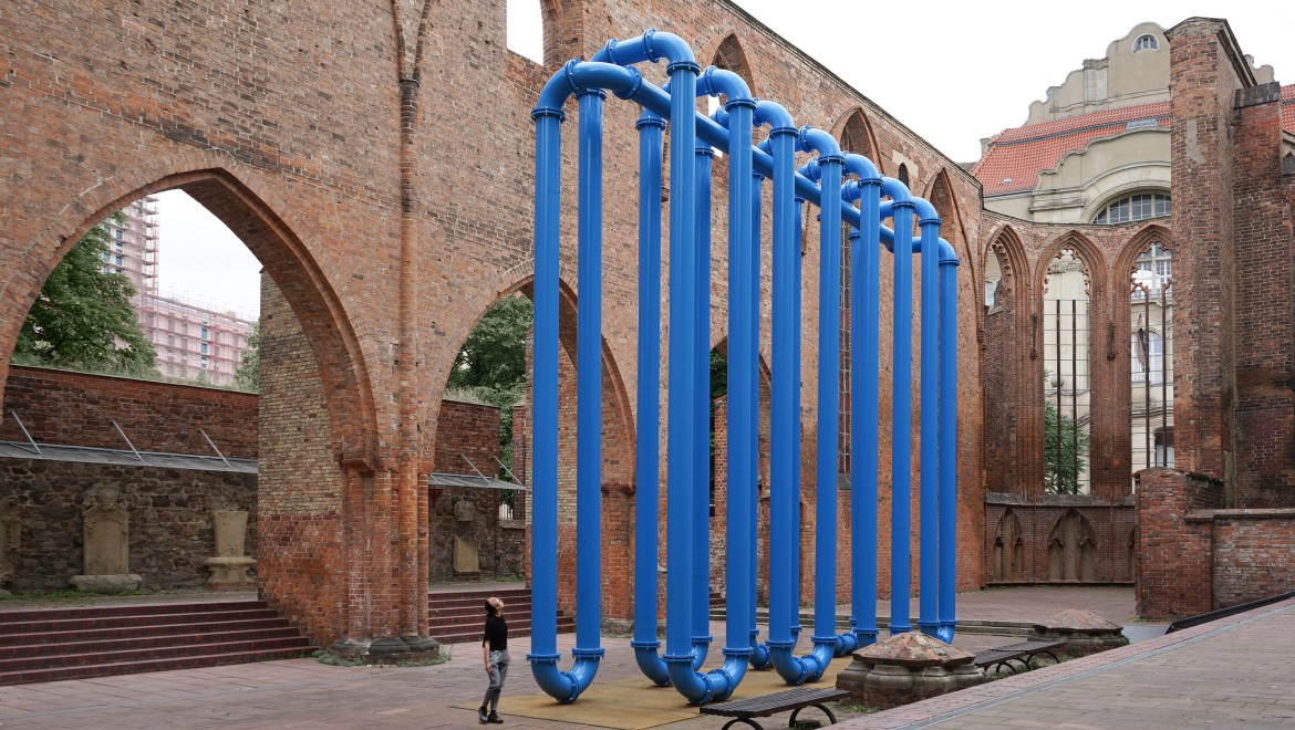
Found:
[[[917,625],[923,634],[935,636],[939,619],[939,373],[940,373],[940,219],[930,203],[918,203],[918,225],[922,229],[922,352],[921,352],[921,467],[918,470],[918,571],[919,598]],[[899,255],[896,250],[895,255]]]

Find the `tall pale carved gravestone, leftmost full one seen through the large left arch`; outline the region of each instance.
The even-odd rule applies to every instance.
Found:
[[[118,593],[136,590],[144,579],[130,572],[130,514],[115,487],[93,487],[82,507],[85,575],[69,582],[82,590]]]

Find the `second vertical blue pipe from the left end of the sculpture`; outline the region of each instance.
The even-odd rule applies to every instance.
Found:
[[[575,656],[602,656],[602,104],[579,94],[576,246],[576,645]]]

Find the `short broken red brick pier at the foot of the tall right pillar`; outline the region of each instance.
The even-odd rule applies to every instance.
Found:
[[[1173,619],[1213,610],[1213,519],[1222,481],[1169,469],[1138,475],[1137,614]]]

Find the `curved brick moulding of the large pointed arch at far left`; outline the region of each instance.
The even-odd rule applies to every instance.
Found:
[[[332,450],[347,469],[378,469],[373,453],[377,413],[365,356],[351,317],[316,259],[326,246],[277,193],[254,189],[240,163],[220,154],[155,158],[85,190],[35,237],[17,260],[26,263],[0,283],[0,387],[31,303],[53,268],[95,224],[130,202],[180,189],[220,219],[254,256],[291,305],[311,344],[328,397]]]

